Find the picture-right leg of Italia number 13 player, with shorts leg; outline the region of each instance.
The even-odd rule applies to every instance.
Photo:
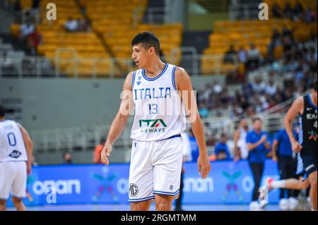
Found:
[[[179,197],[182,170],[182,138],[155,142],[153,157],[153,194],[156,210],[171,210],[172,201]]]

